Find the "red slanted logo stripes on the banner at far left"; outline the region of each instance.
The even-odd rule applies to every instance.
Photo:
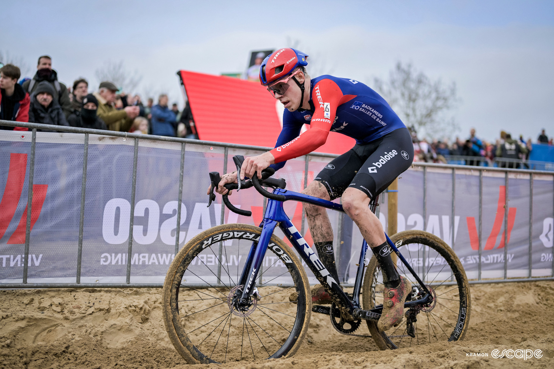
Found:
[[[0,238],[4,236],[8,230],[9,224],[16,215],[17,205],[19,204],[19,199],[21,198],[21,194],[23,192],[26,171],[27,154],[9,154],[8,180],[6,181],[6,188],[4,188],[4,194],[2,195],[2,201],[0,202]],[[33,226],[37,222],[40,212],[42,211],[47,191],[48,185],[33,184],[30,221],[31,230],[33,229]],[[25,206],[25,210],[19,219],[16,230],[8,239],[8,245],[19,245],[21,243],[25,243],[27,206]]]

